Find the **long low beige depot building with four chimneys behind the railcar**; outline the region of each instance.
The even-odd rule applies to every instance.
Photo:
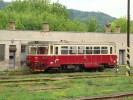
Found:
[[[50,31],[49,24],[43,24],[43,30],[16,30],[15,23],[9,23],[9,30],[0,30],[0,70],[26,66],[27,43],[29,41],[87,41],[114,42],[116,44],[117,61],[125,65],[127,59],[127,34],[111,33],[111,25],[105,26],[104,33],[98,32],[61,32]],[[133,34],[130,34],[130,64],[133,66]]]

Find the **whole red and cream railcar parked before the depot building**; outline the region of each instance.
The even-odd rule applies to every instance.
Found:
[[[28,43],[27,66],[32,71],[114,67],[115,49],[112,42],[32,41]]]

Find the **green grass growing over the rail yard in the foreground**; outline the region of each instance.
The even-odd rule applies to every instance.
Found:
[[[68,77],[67,75],[98,76],[108,73],[113,74],[115,77],[83,77],[78,79],[63,79],[54,81],[42,80],[43,78]],[[22,77],[22,79],[21,77],[17,77],[17,75],[13,77],[6,75],[11,77],[12,80],[28,80],[34,78],[40,78],[40,80],[35,82],[2,83],[0,84],[0,100],[62,100],[65,98],[133,91],[133,76],[125,76],[124,67],[119,68],[119,73],[123,75],[115,75],[115,69],[106,69],[104,72],[34,74],[33,76]],[[8,79],[2,79],[1,81],[4,80]],[[32,89],[36,90],[32,91]],[[132,100],[132,98],[129,98],[129,100]]]

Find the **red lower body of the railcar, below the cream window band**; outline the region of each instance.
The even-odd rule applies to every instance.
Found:
[[[83,68],[114,67],[117,55],[28,55],[27,66],[32,71],[45,71],[62,66],[81,66]]]

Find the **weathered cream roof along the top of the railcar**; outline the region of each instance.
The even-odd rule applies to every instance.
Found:
[[[31,41],[29,45],[115,45],[114,42],[86,42],[86,41]]]

